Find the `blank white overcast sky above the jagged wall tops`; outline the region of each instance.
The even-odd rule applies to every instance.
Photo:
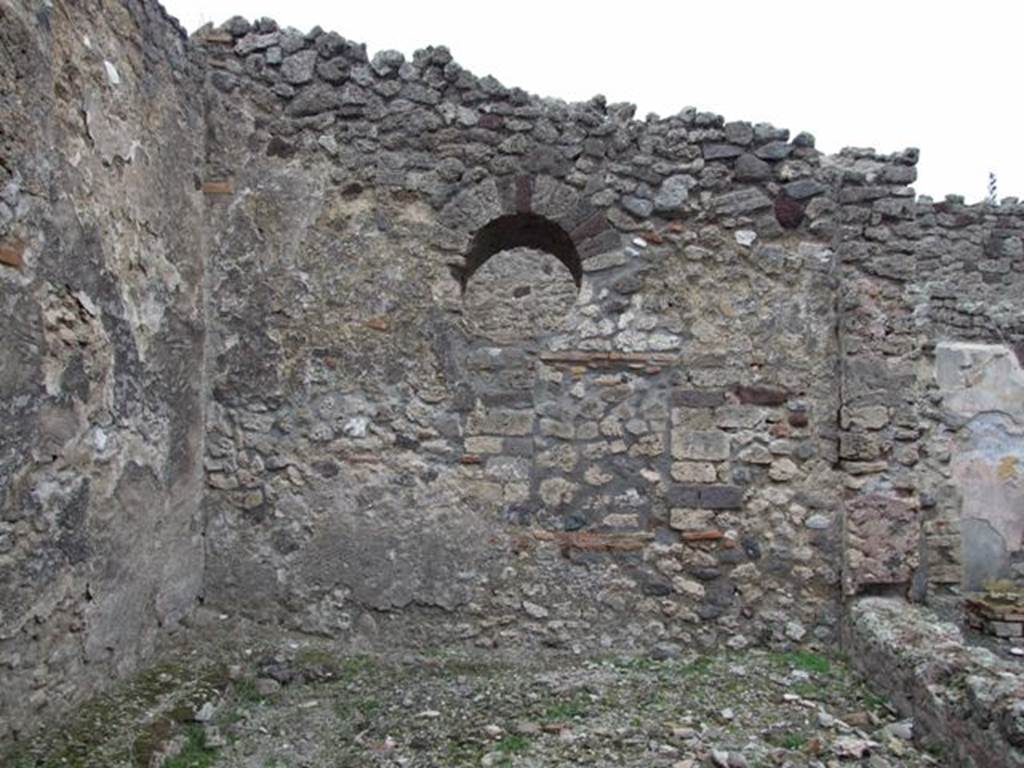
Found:
[[[922,151],[918,193],[1024,198],[1020,0],[164,0],[189,31],[234,14],[315,25],[407,56],[446,45],[506,86],[603,93],[637,116],[692,104],[807,130],[823,152]]]

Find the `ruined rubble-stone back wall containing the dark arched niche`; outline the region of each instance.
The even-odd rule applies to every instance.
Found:
[[[810,136],[542,101],[443,48],[368,60],[241,19],[196,41],[209,604],[597,652],[834,636]]]

